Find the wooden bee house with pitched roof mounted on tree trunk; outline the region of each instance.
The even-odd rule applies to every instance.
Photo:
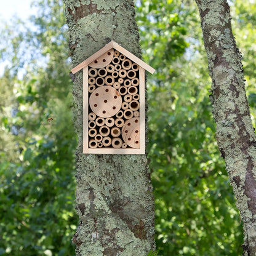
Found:
[[[83,70],[83,153],[145,154],[145,70],[114,41],[74,67]]]

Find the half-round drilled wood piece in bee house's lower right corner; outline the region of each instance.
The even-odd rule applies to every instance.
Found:
[[[140,148],[140,118],[131,118],[122,127],[122,138],[132,148]]]

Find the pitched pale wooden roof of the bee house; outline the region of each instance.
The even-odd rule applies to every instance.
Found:
[[[139,66],[141,66],[142,68],[144,68],[145,70],[147,70],[151,74],[154,73],[154,71],[155,71],[154,68],[152,68],[150,65],[143,62],[140,58],[136,57],[134,54],[130,53],[128,50],[124,49],[124,47],[119,46],[119,44],[114,42],[114,41],[109,42],[102,49],[98,50],[98,52],[95,52],[95,54],[92,54],[89,58],[87,58],[86,60],[81,62],[79,65],[75,66],[71,70],[71,72],[73,74],[75,74],[76,72],[78,72],[79,70],[81,70],[85,66],[89,65],[91,62],[93,62],[98,57],[100,57],[102,54],[105,54],[105,52],[107,52],[108,50],[110,50],[112,48],[114,48],[116,50],[119,50],[119,52],[121,52],[121,54],[126,55],[126,57],[130,58],[130,60],[137,63]]]

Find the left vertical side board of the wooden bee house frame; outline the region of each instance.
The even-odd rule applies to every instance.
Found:
[[[89,153],[88,151],[88,66],[85,66],[82,71],[82,151],[84,154]],[[94,120],[94,114],[90,115],[90,119]]]

